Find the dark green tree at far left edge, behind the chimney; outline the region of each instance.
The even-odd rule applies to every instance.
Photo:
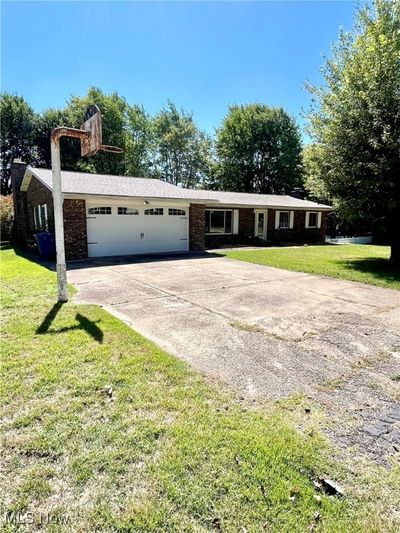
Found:
[[[0,95],[1,147],[0,179],[1,194],[10,194],[10,167],[15,158],[27,163],[37,161],[33,137],[36,115],[22,96],[9,93]]]

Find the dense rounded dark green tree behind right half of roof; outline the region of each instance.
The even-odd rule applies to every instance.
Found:
[[[301,184],[301,141],[293,118],[264,104],[234,105],[217,132],[220,188],[288,193]]]

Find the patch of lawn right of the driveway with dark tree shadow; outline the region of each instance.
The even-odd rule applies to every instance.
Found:
[[[400,290],[400,270],[389,263],[388,246],[342,244],[259,250],[239,249],[226,252],[224,255],[259,265]]]

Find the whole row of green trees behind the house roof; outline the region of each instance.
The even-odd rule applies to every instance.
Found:
[[[103,116],[103,143],[121,155],[81,158],[74,140],[62,139],[65,170],[159,178],[182,187],[280,193],[301,183],[301,139],[294,119],[283,109],[254,104],[231,106],[215,139],[193,115],[168,104],[155,116],[117,92],[91,87],[72,96],[64,109],[35,113],[19,95],[1,94],[1,188],[10,191],[14,158],[51,167],[50,133],[57,126],[79,128],[85,110],[96,104]]]

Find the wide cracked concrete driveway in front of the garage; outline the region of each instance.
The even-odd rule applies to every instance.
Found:
[[[303,392],[338,416],[361,409],[364,426],[400,402],[398,291],[213,254],[74,263],[68,277],[77,301],[244,397]]]

